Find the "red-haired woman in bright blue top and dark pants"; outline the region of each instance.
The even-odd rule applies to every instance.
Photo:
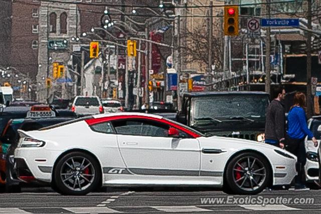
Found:
[[[306,163],[304,138],[312,138],[314,146],[317,141],[313,133],[307,128],[305,116],[305,95],[297,92],[294,95],[294,105],[291,107],[287,116],[287,150],[297,157],[297,176],[295,179],[295,188],[305,188],[304,165]]]

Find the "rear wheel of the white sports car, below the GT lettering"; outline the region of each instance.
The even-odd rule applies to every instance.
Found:
[[[97,188],[101,169],[91,155],[71,152],[63,156],[54,170],[54,187],[58,193],[85,195]]]

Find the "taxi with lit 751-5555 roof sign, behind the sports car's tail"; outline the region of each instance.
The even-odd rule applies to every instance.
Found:
[[[55,112],[49,107],[47,107],[47,109],[41,107],[38,108],[38,110],[42,112],[42,115],[45,115],[44,110],[52,111],[51,114],[54,116],[48,116],[47,114],[43,117],[37,117],[37,115],[30,114],[30,112],[37,111],[36,108],[37,107],[31,108],[33,111],[27,113],[27,118],[9,120],[0,135],[0,185],[6,185],[6,190],[10,192],[20,191],[20,182],[14,172],[13,159],[14,150],[17,147],[15,142],[19,140],[17,130],[37,130],[46,126],[75,119],[75,114],[72,114],[74,117],[59,117],[59,114],[56,117]]]

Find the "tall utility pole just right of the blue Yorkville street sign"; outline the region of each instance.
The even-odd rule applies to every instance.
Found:
[[[312,29],[312,20],[311,20],[311,9],[312,0],[307,0],[307,29]],[[307,118],[312,116],[312,106],[311,106],[311,32],[307,32],[306,39],[306,109],[307,109]]]

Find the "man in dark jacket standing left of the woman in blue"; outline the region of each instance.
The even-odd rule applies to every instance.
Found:
[[[282,101],[285,97],[285,90],[277,86],[273,90],[273,100],[266,113],[265,143],[284,148],[285,135],[285,109]]]

